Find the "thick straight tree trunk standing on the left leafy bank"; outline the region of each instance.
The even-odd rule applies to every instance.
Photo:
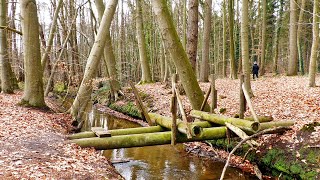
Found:
[[[39,21],[35,0],[20,0],[25,85],[21,104],[44,107]]]

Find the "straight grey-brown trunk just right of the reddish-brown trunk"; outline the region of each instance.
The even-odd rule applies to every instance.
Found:
[[[209,50],[210,50],[210,30],[211,30],[211,6],[212,0],[205,2],[205,16],[204,16],[204,32],[202,39],[202,62],[200,66],[200,81],[208,82],[209,77]]]

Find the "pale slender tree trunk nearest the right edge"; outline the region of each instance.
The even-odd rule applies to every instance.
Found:
[[[309,87],[316,86],[317,50],[319,47],[319,0],[313,1],[313,40],[309,65]]]

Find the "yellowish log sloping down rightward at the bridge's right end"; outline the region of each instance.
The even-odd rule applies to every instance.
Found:
[[[198,111],[198,110],[192,110],[190,115],[195,118],[199,118],[202,120],[210,121],[216,124],[225,125],[226,122],[239,127],[242,130],[248,130],[248,131],[258,131],[260,128],[260,123],[248,121],[244,119],[238,119],[238,118],[231,118],[226,117],[222,115],[217,114],[210,114],[208,112]]]

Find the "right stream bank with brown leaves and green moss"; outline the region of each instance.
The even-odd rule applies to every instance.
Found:
[[[304,77],[279,77],[261,78],[252,84],[253,90],[257,94],[252,101],[258,115],[272,116],[275,121],[288,119],[296,121],[291,131],[282,135],[264,135],[258,138],[257,141],[261,146],[247,156],[248,160],[245,163],[251,160],[252,163],[258,164],[264,174],[282,177],[283,179],[319,179],[320,127],[317,123],[320,114],[317,108],[320,107],[320,102],[314,95],[320,94],[320,90],[319,88],[306,89],[304,87],[307,85],[304,82],[306,82]],[[234,87],[238,87],[238,81],[221,79],[217,80],[216,83],[219,97],[218,113],[219,109],[224,108],[226,111],[220,112],[221,114],[234,116],[238,108],[238,90]],[[200,85],[204,92],[209,86],[205,83]],[[154,83],[139,85],[137,88],[149,112],[170,116],[170,87],[166,84]],[[133,103],[134,97],[130,88],[124,89],[124,92],[126,97],[109,107],[139,116]],[[190,104],[185,96],[182,96],[182,98],[184,108],[189,113],[191,110]],[[266,106],[269,108],[265,108]],[[247,111],[246,116],[249,115]],[[312,131],[303,131],[304,127],[309,126],[314,126]],[[209,158],[224,161],[227,157],[226,151],[231,151],[232,146],[223,143],[223,141],[206,142],[201,145],[199,143],[187,143],[186,150],[197,155],[203,154]],[[224,153],[220,151],[221,149]],[[245,152],[246,148],[243,147],[242,152],[238,155],[243,155]],[[235,157],[232,165],[252,171],[252,166],[243,165],[242,158],[239,157]]]

